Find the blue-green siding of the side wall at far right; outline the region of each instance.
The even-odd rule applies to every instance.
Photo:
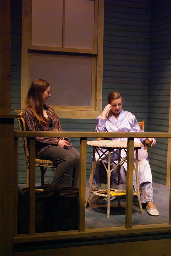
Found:
[[[152,1],[148,86],[148,131],[168,132],[171,70],[171,2]],[[149,148],[153,181],[166,184],[167,139]]]

